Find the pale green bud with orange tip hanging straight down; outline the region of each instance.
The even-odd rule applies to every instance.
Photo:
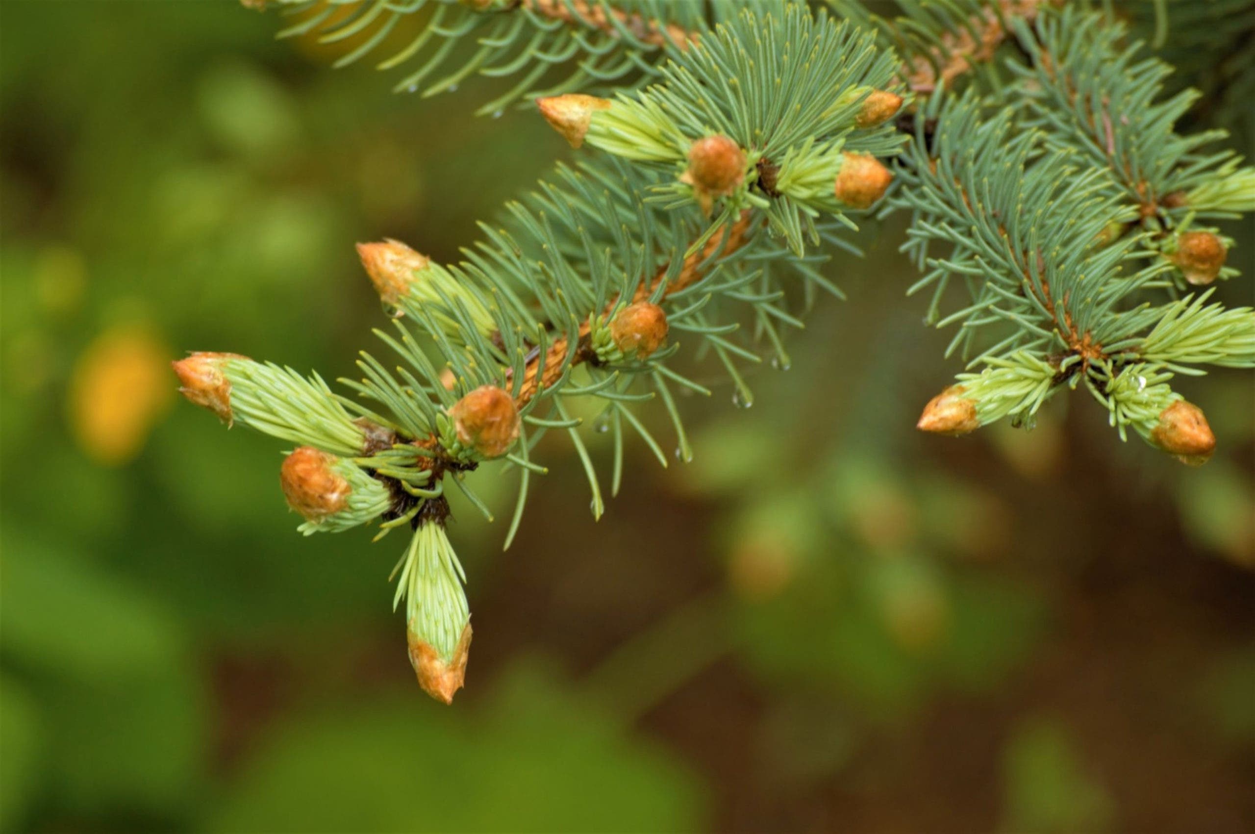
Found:
[[[397,580],[393,608],[405,599],[405,642],[418,685],[449,703],[466,678],[471,612],[462,590],[462,566],[444,531],[448,504],[428,499]]]

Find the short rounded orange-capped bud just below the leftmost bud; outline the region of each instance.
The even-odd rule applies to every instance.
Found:
[[[382,482],[353,461],[301,446],[279,472],[287,506],[305,519],[301,533],[338,533],[379,517],[392,496]]]

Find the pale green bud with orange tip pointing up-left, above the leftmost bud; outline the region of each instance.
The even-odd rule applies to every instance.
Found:
[[[434,263],[399,240],[358,244],[358,256],[384,308],[394,317],[429,314],[448,334],[461,329],[453,305],[461,305],[476,330],[491,337],[497,324],[481,298]]]

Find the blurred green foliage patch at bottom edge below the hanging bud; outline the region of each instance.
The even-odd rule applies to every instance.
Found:
[[[692,776],[535,668],[487,703],[417,695],[295,717],[236,780],[221,831],[692,830]]]

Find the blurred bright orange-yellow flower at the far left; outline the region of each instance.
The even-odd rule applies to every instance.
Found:
[[[143,448],[173,392],[167,347],[146,328],[110,328],[74,364],[69,386],[74,438],[99,463],[127,463]]]

